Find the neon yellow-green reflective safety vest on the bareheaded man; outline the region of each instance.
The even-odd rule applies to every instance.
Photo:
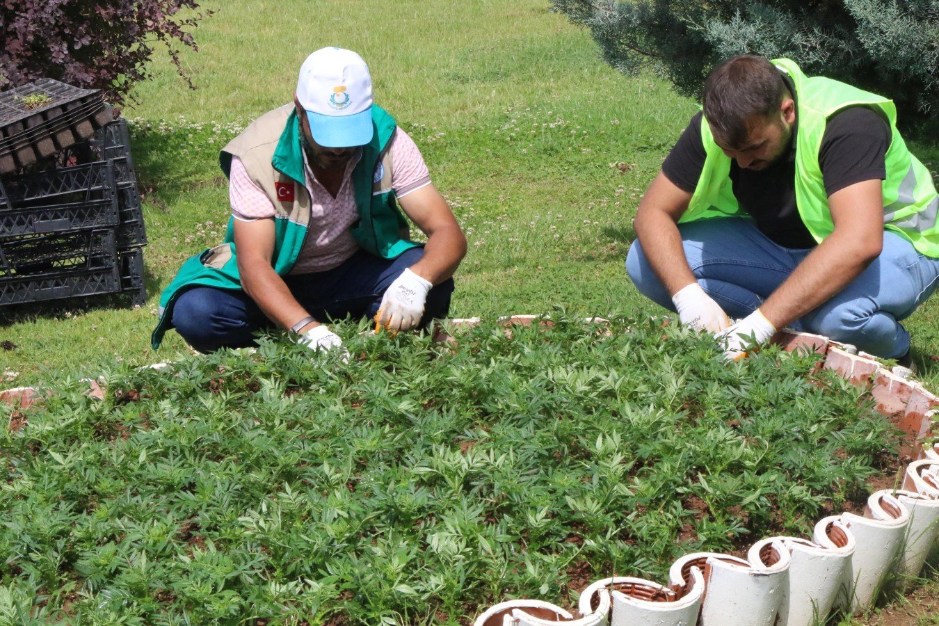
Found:
[[[876,106],[886,115],[892,133],[885,156],[884,228],[910,240],[921,254],[939,257],[936,224],[939,196],[929,170],[910,154],[897,130],[897,109],[893,102],[849,84],[820,76],[807,77],[789,59],[776,59],[773,64],[789,75],[797,94],[795,201],[811,236],[821,242],[835,228],[819,166],[825,124],[831,115],[846,107]],[[746,214],[733,196],[731,158],[716,145],[704,118],[701,118],[701,140],[707,156],[698,186],[680,221]]]

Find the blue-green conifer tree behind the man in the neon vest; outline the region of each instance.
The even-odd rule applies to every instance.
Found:
[[[901,121],[939,117],[939,0],[551,0],[590,28],[616,69],[653,69],[697,96],[738,53],[785,56],[894,99]]]

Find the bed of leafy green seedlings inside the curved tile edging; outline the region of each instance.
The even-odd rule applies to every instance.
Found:
[[[660,321],[554,312],[460,347],[342,325],[72,381],[0,431],[0,620],[456,624],[571,604],[688,552],[806,534],[867,496],[889,426],[774,347],[714,367]],[[9,413],[9,408],[0,408]]]

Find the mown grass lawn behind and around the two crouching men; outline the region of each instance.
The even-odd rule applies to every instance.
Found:
[[[217,12],[196,31],[200,50],[183,54],[197,89],[161,56],[154,80],[124,112],[136,120],[133,154],[146,196],[146,306],[0,310],[0,340],[16,346],[0,352],[3,370],[19,373],[9,383],[54,379],[63,367],[93,376],[114,359],[143,365],[187,352],[176,333],[159,352],[148,336],[159,293],[182,260],[222,238],[228,209],[217,151],[290,99],[307,53],[336,43],[369,62],[377,101],[417,141],[468,233],[454,316],[555,305],[660,313],[628,281],[623,259],[639,196],[695,104],[658,79],[608,68],[589,35],[546,2],[206,7]],[[925,160],[939,155],[918,151]],[[927,377],[939,354],[936,306],[909,321]]]

